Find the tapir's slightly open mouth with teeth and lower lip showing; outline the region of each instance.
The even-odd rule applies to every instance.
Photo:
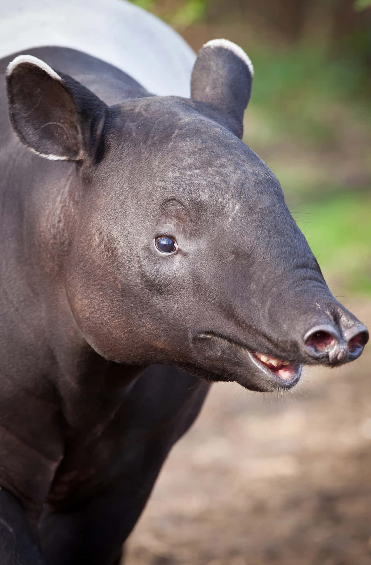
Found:
[[[278,359],[267,354],[258,353],[257,351],[251,351],[246,345],[212,332],[202,332],[199,333],[197,337],[201,340],[211,340],[215,345],[223,345],[226,347],[226,350],[231,350],[231,353],[233,352],[233,357],[235,357],[236,353],[240,354],[240,356],[245,359],[245,363],[247,359],[250,360],[252,366],[250,371],[246,371],[246,378],[241,375],[241,370],[238,371],[238,375],[236,375],[235,378],[239,384],[246,388],[265,390],[267,392],[273,390],[287,390],[298,383],[300,379],[302,373],[301,363]],[[249,363],[246,364],[245,370],[248,370]],[[251,380],[248,377],[248,373],[252,373]]]

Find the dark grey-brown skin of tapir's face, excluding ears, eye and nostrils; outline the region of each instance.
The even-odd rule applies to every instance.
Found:
[[[305,334],[326,325],[343,344],[365,328],[331,295],[270,169],[187,101],[130,106],[112,112],[69,256],[68,297],[89,343],[117,362],[176,364],[252,390],[300,374],[266,370],[255,352],[330,364]],[[177,251],[160,253],[159,236]]]

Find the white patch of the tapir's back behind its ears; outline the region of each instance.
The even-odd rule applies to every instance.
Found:
[[[195,54],[158,18],[125,0],[2,2],[0,58],[42,45],[89,53],[159,95],[189,96]]]

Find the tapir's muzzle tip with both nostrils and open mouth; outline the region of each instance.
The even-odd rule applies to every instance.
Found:
[[[298,383],[303,364],[334,367],[361,355],[369,332],[330,293],[325,300],[317,295],[314,302],[304,305],[301,301],[296,308],[285,309],[284,305],[276,305],[273,312],[268,309],[255,323],[240,318],[228,334],[199,332],[195,338],[198,354],[202,352],[207,359],[200,363],[200,372],[204,367],[213,380],[220,373],[220,380],[233,379],[249,389],[272,391]]]

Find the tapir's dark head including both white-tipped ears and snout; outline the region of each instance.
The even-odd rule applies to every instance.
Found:
[[[366,328],[330,293],[279,182],[241,141],[252,73],[239,47],[215,40],[199,51],[190,99],[108,107],[31,56],[8,67],[20,140],[76,162],[63,284],[103,357],[275,390],[302,363],[361,354]]]

